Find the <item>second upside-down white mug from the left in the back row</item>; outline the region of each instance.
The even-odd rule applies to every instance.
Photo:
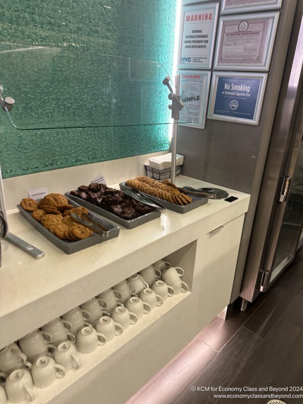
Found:
[[[39,357],[48,355],[48,348],[56,348],[56,345],[48,343],[47,340],[44,339],[44,335],[47,337],[48,341],[52,339],[51,333],[35,330],[18,341],[22,352],[24,352],[31,363],[34,363]]]

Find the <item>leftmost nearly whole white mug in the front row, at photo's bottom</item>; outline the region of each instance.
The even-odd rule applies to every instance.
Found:
[[[28,370],[14,370],[5,382],[5,389],[11,402],[33,401],[35,399],[33,380]]]

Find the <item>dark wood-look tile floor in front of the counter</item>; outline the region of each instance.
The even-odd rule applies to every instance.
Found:
[[[240,394],[300,394],[281,399],[302,404],[303,391],[289,391],[301,386],[303,248],[254,304],[245,312],[235,309],[227,321],[215,318],[128,404],[265,404],[278,398],[218,398],[214,394],[219,387],[235,389],[223,394],[236,394],[240,389]],[[212,387],[217,390],[211,391]],[[270,387],[288,391],[277,393]]]

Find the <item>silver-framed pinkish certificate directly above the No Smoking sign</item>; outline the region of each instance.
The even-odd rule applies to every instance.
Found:
[[[214,69],[267,71],[279,12],[220,18]]]

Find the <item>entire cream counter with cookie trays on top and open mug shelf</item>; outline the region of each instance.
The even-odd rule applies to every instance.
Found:
[[[184,176],[177,184],[213,186]],[[209,200],[184,215],[167,210],[135,229],[121,226],[117,238],[73,255],[40,236],[16,209],[9,211],[10,231],[45,256],[35,260],[2,242],[0,348],[164,257],[184,268],[189,285],[189,292],[170,298],[122,337],[82,355],[80,370],[36,389],[34,402],[121,404],[223,310],[249,203],[249,195],[227,191],[238,200]]]

